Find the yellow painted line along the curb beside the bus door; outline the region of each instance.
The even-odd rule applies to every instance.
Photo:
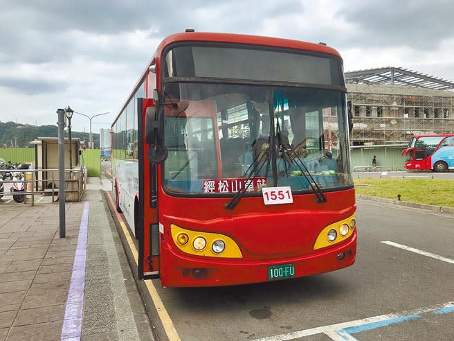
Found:
[[[108,191],[105,191],[107,193],[107,196],[109,197],[109,201],[111,203],[112,208],[115,207],[114,200],[112,199],[110,193]],[[131,236],[129,235],[129,231],[127,231],[127,227],[125,222],[123,222],[120,214],[115,210],[114,212],[116,213],[116,218],[118,222],[120,222],[121,229],[123,231],[123,234],[125,235],[127,244],[129,245],[129,249],[131,250],[131,253],[134,258],[134,262],[136,263],[136,266],[138,265],[138,251],[136,249],[136,245],[134,245],[134,242],[131,239]],[[170,319],[169,313],[167,313],[167,310],[165,309],[165,306],[163,304],[163,301],[161,297],[158,294],[158,291],[156,290],[156,287],[154,286],[154,283],[151,279],[144,280],[145,281],[145,286],[147,287],[147,290],[149,292],[149,296],[152,297],[152,301],[154,303],[154,307],[156,308],[156,311],[158,312],[158,316],[161,320],[161,323],[163,324],[165,333],[167,334],[167,338],[169,338],[170,341],[181,341],[178,333],[176,332],[176,329],[174,327],[174,324],[172,320]]]

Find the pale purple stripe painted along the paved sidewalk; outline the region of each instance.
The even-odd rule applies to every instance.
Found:
[[[85,261],[87,258],[87,236],[89,227],[89,202],[85,202],[75,250],[73,274],[69,286],[61,340],[80,340],[82,335],[82,313],[84,309]]]

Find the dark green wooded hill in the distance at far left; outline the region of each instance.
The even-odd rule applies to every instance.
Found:
[[[29,142],[38,137],[58,137],[57,125],[30,125],[0,121],[0,148],[4,148],[5,145],[9,148],[11,144],[15,146],[16,143],[18,148],[31,148],[32,145]],[[68,132],[65,132],[65,137],[69,137]],[[87,146],[89,144],[88,132],[71,130],[71,137],[85,141]],[[93,133],[93,143],[94,148],[99,148],[99,134]]]

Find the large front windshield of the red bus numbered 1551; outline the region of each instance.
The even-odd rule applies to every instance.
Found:
[[[167,191],[232,195],[246,186],[259,192],[272,186],[275,167],[278,186],[311,192],[305,169],[284,149],[321,189],[352,186],[343,91],[183,81],[167,82],[163,90],[164,103],[189,101],[176,115],[165,105]],[[273,134],[275,161],[269,157]]]

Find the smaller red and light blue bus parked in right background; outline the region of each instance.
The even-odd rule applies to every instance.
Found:
[[[402,150],[408,156],[403,166],[408,170],[447,172],[454,169],[454,134],[415,135],[409,148]]]

